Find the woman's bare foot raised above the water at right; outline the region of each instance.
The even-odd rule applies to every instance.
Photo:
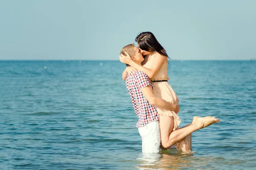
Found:
[[[220,122],[219,119],[215,118],[215,117],[198,117],[198,116],[194,116],[192,124],[194,125],[198,125],[199,129],[202,129],[204,127],[207,127],[209,125],[212,125],[214,123]]]

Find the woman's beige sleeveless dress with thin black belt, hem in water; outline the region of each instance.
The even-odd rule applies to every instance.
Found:
[[[150,59],[148,59],[148,62],[143,65],[146,68],[151,68],[151,65],[153,64],[154,56],[152,56]],[[160,70],[157,72],[157,74],[151,79],[151,81],[155,80],[169,80],[169,77],[167,75],[167,67],[168,63],[163,63],[163,66],[160,68]],[[157,97],[160,97],[167,102],[175,103],[178,99],[176,93],[173,91],[172,87],[169,85],[168,82],[153,82],[153,91],[154,95]],[[180,125],[180,118],[174,111],[169,111],[165,109],[157,108],[157,112],[160,115],[164,116],[173,116],[174,117],[174,126],[173,131],[177,130]],[[191,153],[192,151],[192,136],[191,134],[181,140],[180,142],[177,142],[175,144],[175,147],[177,150],[182,150],[185,153]]]

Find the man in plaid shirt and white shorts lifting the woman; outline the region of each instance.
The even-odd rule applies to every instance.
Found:
[[[126,45],[120,53],[125,54],[125,51],[128,52],[135,62],[141,65],[144,58],[137,47],[133,44]],[[161,98],[155,97],[152,84],[148,76],[142,71],[136,71],[133,76],[128,76],[126,87],[131,96],[135,113],[139,118],[136,127],[142,137],[142,152],[157,153],[160,147],[157,108],[172,110],[177,113],[180,107],[177,104],[171,104]]]

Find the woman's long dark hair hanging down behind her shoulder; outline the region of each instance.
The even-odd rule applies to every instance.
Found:
[[[138,43],[140,49],[149,52],[157,51],[162,56],[166,56],[170,59],[163,46],[157,41],[156,37],[151,32],[140,33],[135,38],[135,41]]]

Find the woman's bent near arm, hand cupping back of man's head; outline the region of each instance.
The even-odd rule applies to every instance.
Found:
[[[120,57],[120,61],[124,62],[124,63],[128,62],[126,64],[131,65],[132,67],[134,67],[137,70],[143,71],[145,74],[148,75],[149,78],[153,78],[154,75],[157,74],[157,72],[160,70],[163,63],[166,61],[166,56],[162,56],[162,55],[156,53],[155,57],[153,59],[154,64],[151,66],[150,69],[148,69],[148,68],[145,68],[142,65],[139,65],[136,62],[134,62],[128,53],[126,53],[126,55],[127,56],[121,54],[122,57]]]

